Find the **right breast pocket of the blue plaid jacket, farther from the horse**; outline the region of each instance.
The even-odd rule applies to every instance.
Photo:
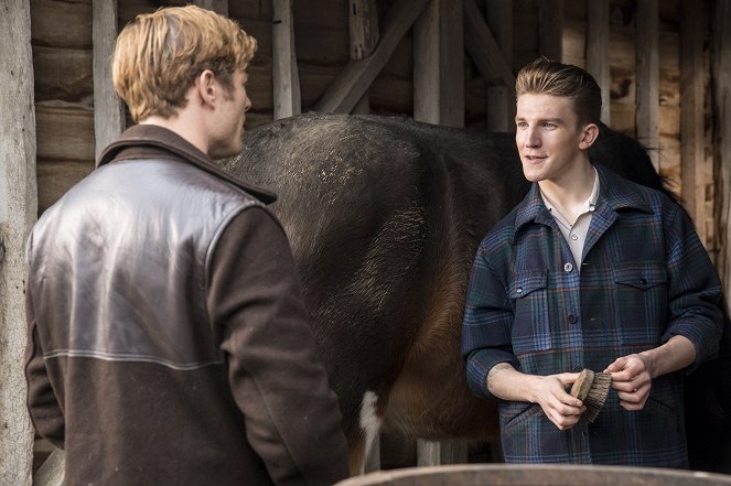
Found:
[[[667,269],[660,261],[633,261],[614,268],[623,335],[632,344],[657,344],[667,321]]]

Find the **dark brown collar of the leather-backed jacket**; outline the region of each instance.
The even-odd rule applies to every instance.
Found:
[[[202,169],[246,191],[264,204],[277,201],[277,195],[248,184],[218,168],[213,159],[178,133],[155,125],[135,125],[110,143],[97,162],[97,166],[127,159],[172,159]]]

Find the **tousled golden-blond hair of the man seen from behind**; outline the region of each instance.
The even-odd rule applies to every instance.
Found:
[[[132,120],[170,118],[186,105],[195,78],[211,69],[232,88],[236,69],[246,69],[257,42],[223,15],[195,6],[137,15],[117,37],[112,61],[115,90]]]

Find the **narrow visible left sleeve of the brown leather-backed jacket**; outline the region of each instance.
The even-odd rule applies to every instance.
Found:
[[[30,282],[30,279],[26,279]],[[25,289],[28,342],[25,346],[25,379],[28,381],[28,410],[35,431],[58,449],[64,447],[65,420],[51,386],[43,358],[43,349],[35,324],[30,284]]]

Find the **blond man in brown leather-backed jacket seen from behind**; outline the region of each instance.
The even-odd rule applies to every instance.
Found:
[[[347,475],[275,196],[212,161],[241,150],[255,50],[196,7],[125,28],[115,88],[139,125],[29,239],[29,409],[67,484]]]

